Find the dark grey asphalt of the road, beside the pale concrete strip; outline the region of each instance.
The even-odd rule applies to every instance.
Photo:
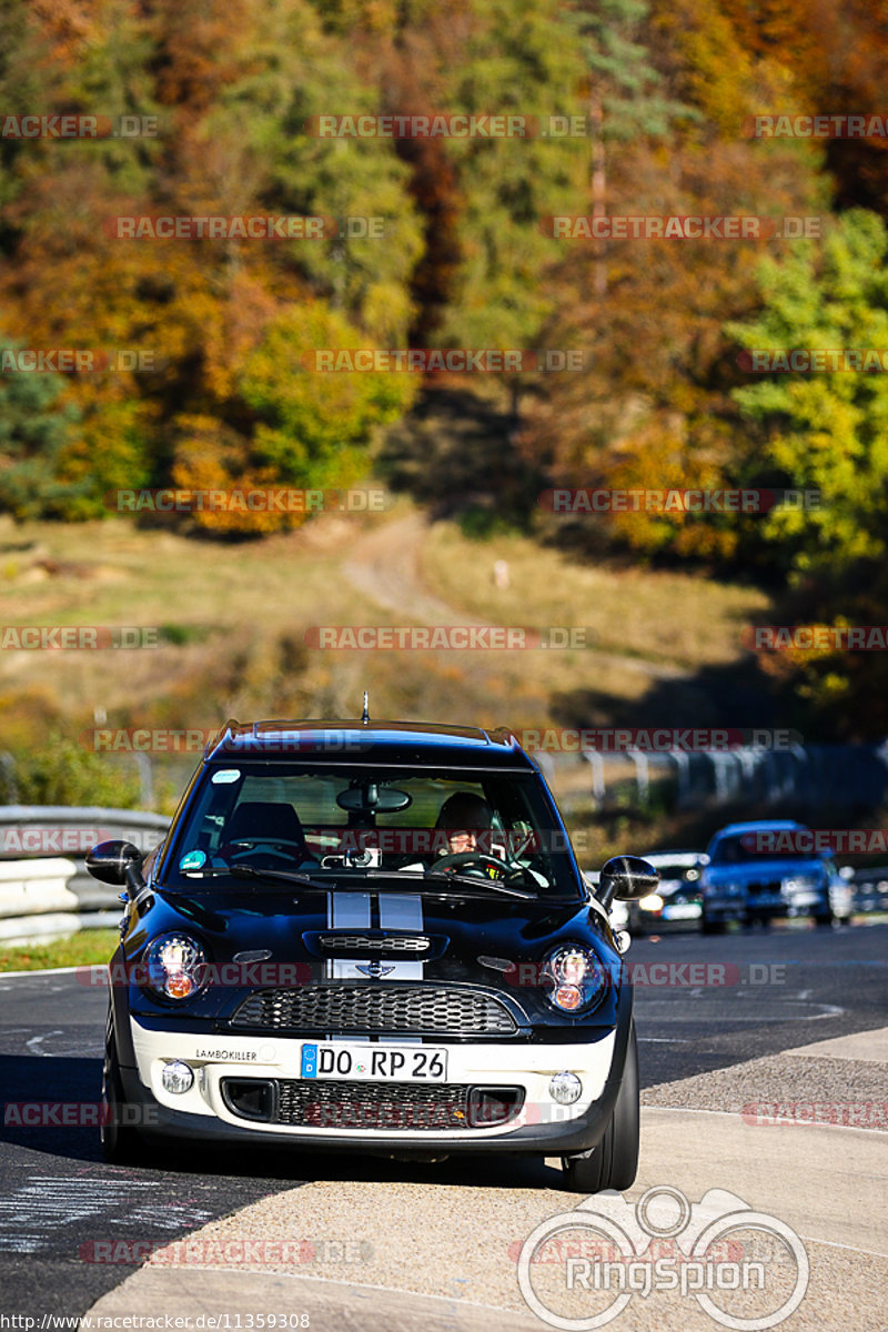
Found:
[[[780,928],[724,938],[636,939],[643,1086],[672,1082],[807,1042],[883,1026],[888,926]],[[0,1308],[40,1316],[85,1312],[133,1265],[89,1261],[103,1235],[161,1245],[269,1193],[308,1180],[399,1177],[453,1184],[553,1187],[533,1159],[458,1158],[437,1166],[375,1158],[189,1147],[157,1168],[108,1167],[97,1130],[11,1123],[20,1102],[99,1099],[105,994],[75,975],[0,976]]]

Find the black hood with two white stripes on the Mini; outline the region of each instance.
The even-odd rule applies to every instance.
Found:
[[[189,1011],[204,1015],[222,1016],[256,988],[332,979],[470,983],[530,999],[539,992],[543,959],[559,943],[592,948],[614,980],[622,974],[607,923],[579,899],[525,902],[494,894],[490,899],[442,899],[409,891],[381,894],[373,886],[366,892],[301,894],[298,886],[286,884],[193,894],[153,888],[142,899],[138,920],[126,932],[125,956],[137,963],[150,940],[170,931],[196,938],[214,975],[222,976],[193,1007],[189,1000]],[[425,947],[390,952],[378,947],[385,935],[407,936]],[[347,938],[339,944],[342,936]],[[357,970],[374,960],[385,967],[382,978]],[[157,1012],[150,996],[134,984],[130,1004]],[[539,1010],[535,1002],[530,1007]],[[596,1010],[596,1020],[608,1020],[604,1008],[610,1006]],[[176,1006],[177,1014],[184,1011]],[[545,1020],[553,1020],[551,1011]],[[558,1015],[558,1020],[580,1019]]]

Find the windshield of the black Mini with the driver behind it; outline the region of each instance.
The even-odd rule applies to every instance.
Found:
[[[164,883],[210,887],[248,867],[282,888],[276,875],[301,874],[343,887],[371,876],[374,891],[469,879],[578,898],[566,842],[533,773],[242,762],[204,774]]]

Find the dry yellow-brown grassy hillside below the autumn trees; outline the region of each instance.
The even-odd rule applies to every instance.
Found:
[[[240,543],[120,518],[0,519],[1,625],[142,626],[157,637],[140,650],[0,653],[0,750],[53,729],[88,745],[95,726],[357,717],[363,689],[378,718],[521,730],[626,725],[647,709],[635,725],[704,725],[696,673],[743,661],[740,627],[767,607],[752,587],[576,565],[518,535],[470,541],[451,522],[423,531],[411,513],[402,500],[386,514],[325,514]],[[417,549],[403,551],[410,527]],[[507,587],[497,586],[495,561],[507,565]],[[374,589],[390,573],[395,595],[381,605]],[[434,622],[579,626],[587,647],[320,650],[305,641],[312,625],[427,623],[429,598],[445,603]],[[153,758],[154,803],[166,813],[197,757]]]

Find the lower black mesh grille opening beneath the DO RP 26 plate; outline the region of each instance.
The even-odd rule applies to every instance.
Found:
[[[525,1103],[523,1087],[289,1078],[228,1078],[222,1096],[232,1114],[253,1123],[390,1134],[502,1128]]]

